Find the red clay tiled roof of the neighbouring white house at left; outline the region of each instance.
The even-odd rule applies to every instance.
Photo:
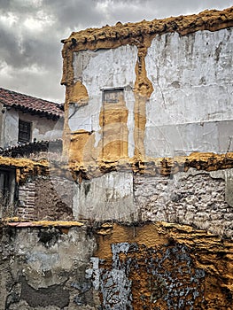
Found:
[[[0,103],[12,106],[33,114],[40,114],[47,118],[63,117],[62,105],[37,97],[20,94],[18,92],[0,88]]]

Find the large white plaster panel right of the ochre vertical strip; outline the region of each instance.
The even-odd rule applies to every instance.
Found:
[[[153,39],[145,58],[154,88],[147,104],[147,155],[232,150],[232,51],[232,28]]]

